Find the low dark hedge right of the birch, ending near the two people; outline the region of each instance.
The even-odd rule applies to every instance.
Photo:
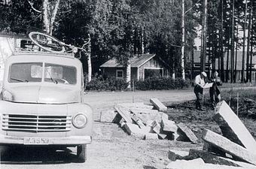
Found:
[[[190,82],[182,79],[173,80],[171,77],[149,78],[135,82],[135,88],[139,90],[169,90],[183,89],[188,87]]]

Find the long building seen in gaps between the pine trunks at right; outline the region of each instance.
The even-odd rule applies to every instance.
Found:
[[[245,51],[245,71],[246,71],[246,51]],[[231,53],[229,53],[229,65],[228,65],[228,70],[229,70],[229,77],[230,77],[230,56]],[[236,57],[236,53],[235,53]],[[236,63],[236,80],[241,80],[242,76],[242,51],[237,51],[237,60],[234,61]],[[187,63],[190,65],[189,70],[187,70],[187,75],[190,74],[193,79],[197,74],[200,74],[200,50],[194,50],[194,55],[192,56],[192,53],[189,55],[189,58],[187,58]],[[252,56],[251,60],[251,80],[256,80],[256,57]],[[215,69],[215,71],[218,71],[220,73],[220,68],[221,68],[221,62],[220,59],[215,60],[215,68],[212,64],[212,61],[209,60],[209,57],[206,57],[206,73],[209,74],[209,71],[212,69]],[[226,77],[226,72],[227,72],[227,52],[224,53],[224,77]],[[246,72],[244,72],[244,77],[245,77]]]

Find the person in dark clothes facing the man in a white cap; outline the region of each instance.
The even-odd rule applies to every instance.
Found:
[[[210,87],[210,98],[212,101],[212,108],[216,106],[216,104],[221,101],[221,91],[218,89],[218,86],[222,85],[221,78],[218,77],[218,72],[215,71],[213,73],[213,77],[211,78],[212,87]]]

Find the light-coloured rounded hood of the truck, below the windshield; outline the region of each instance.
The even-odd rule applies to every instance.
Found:
[[[5,88],[12,101],[41,104],[68,104],[80,102],[80,90],[70,86],[15,86]]]

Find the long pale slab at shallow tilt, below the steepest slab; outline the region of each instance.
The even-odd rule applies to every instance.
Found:
[[[242,159],[251,164],[256,164],[256,154],[250,152],[248,149],[245,149],[242,146],[239,146],[237,143],[233,143],[231,140],[228,140],[226,137],[223,137],[220,134],[208,129],[204,129],[202,138],[204,141],[206,141],[206,143],[212,144],[213,146],[218,147],[236,158]]]

